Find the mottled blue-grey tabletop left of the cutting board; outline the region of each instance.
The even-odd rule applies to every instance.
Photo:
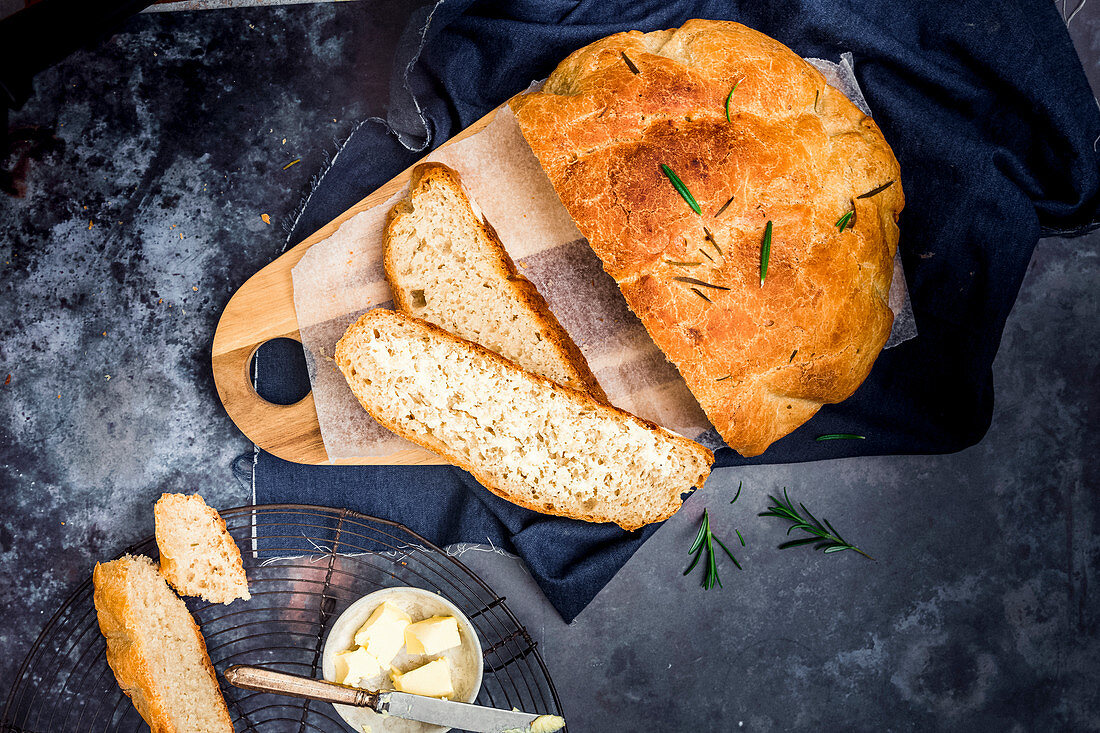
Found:
[[[283,250],[334,139],[382,111],[405,14],[141,15],[13,113],[37,142],[18,149],[25,196],[0,195],[0,603],[18,612],[0,624],[4,690],[91,564],[152,532],[162,491],[249,501],[230,462],[252,446],[215,393],[215,326]],[[362,43],[355,28],[371,29]]]

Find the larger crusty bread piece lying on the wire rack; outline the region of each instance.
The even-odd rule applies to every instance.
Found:
[[[232,733],[206,642],[147,557],[96,564],[107,664],[153,733]]]

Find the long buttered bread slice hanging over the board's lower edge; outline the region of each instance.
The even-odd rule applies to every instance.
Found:
[[[427,321],[376,309],[336,362],[382,425],[546,514],[637,529],[702,486],[710,450]]]

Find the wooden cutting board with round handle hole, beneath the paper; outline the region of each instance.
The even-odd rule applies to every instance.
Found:
[[[507,103],[507,102],[505,102]],[[503,106],[502,106],[503,107]],[[454,135],[442,146],[469,138],[487,125],[499,107]],[[324,225],[304,242],[283,253],[238,288],[226,305],[213,335],[211,362],[218,397],[237,427],[270,453],[296,463],[410,464],[446,463],[436,453],[421,448],[400,450],[391,456],[345,458],[330,461],[317,423],[317,408],[310,393],[293,405],[267,402],[252,386],[249,371],[252,357],[263,343],[277,338],[298,342],[298,318],[294,311],[290,271],[310,247],[332,236],[351,217],[384,204],[408,184],[413,167],[403,171],[362,201]]]

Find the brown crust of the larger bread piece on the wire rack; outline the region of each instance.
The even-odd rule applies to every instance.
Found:
[[[97,562],[92,571],[92,602],[99,620],[99,630],[107,639],[107,664],[114,672],[119,687],[133,702],[152,733],[190,733],[178,730],[168,718],[162,681],[157,680],[150,669],[134,631],[148,623],[147,619],[142,619],[135,613],[127,597],[127,586],[131,582],[129,579],[131,566],[138,561],[127,555],[111,562]],[[188,617],[190,619],[189,613]],[[217,689],[217,675],[206,650],[206,639],[202,638],[202,632],[194,619],[191,628],[202,649],[202,666]],[[213,704],[218,707],[224,730],[232,731],[233,723],[220,691]]]

